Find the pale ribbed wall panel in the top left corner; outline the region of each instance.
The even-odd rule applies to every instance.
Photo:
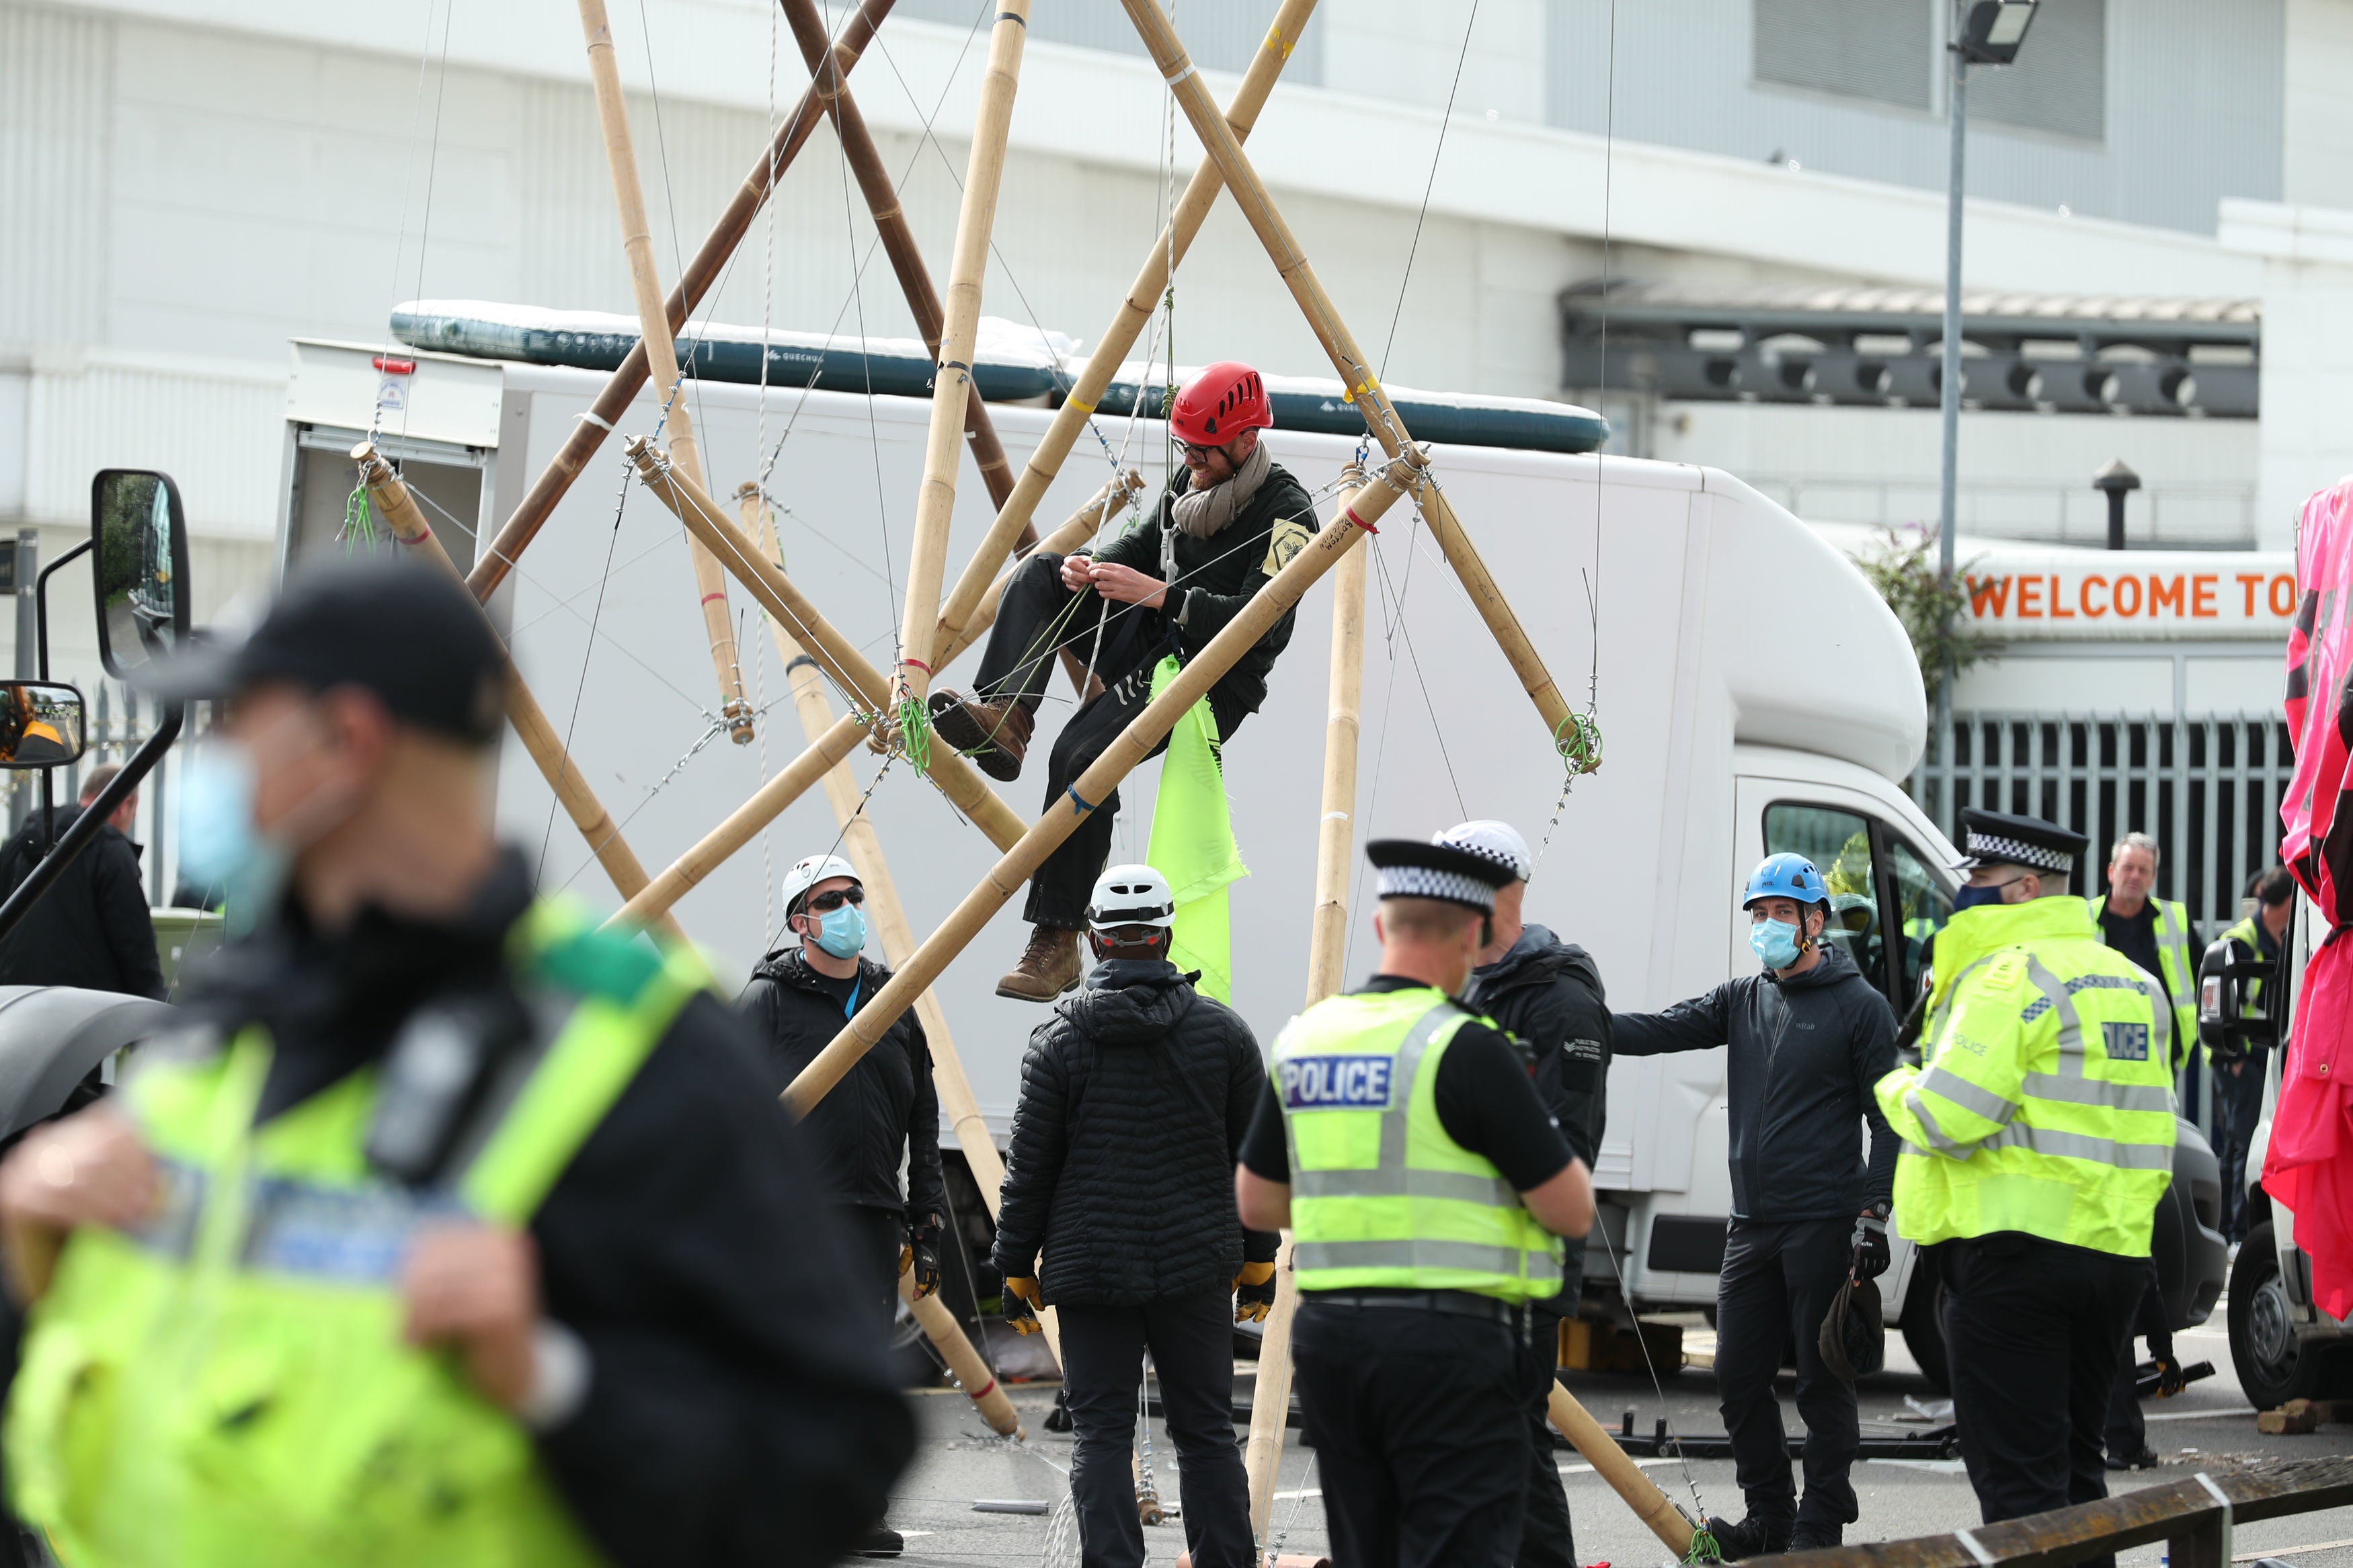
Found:
[[[0,343],[106,334],[115,24],[0,5]]]

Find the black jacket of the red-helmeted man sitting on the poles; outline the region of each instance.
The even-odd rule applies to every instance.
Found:
[[[1209,538],[1193,538],[1176,529],[1174,503],[1179,484],[1160,496],[1160,510],[1111,541],[1096,559],[1115,567],[1132,567],[1144,576],[1181,588],[1181,599],[1169,597],[1167,607],[1151,611],[1158,628],[1165,628],[1184,658],[1193,658],[1209,639],[1226,630],[1226,623],[1242,614],[1249,597],[1273,581],[1278,571],[1315,538],[1315,503],[1282,463],[1268,463],[1266,480],[1249,505]],[[1174,534],[1176,576],[1162,571],[1160,536]],[[1221,708],[1233,712],[1257,712],[1266,701],[1266,672],[1275,668],[1292,642],[1292,611],[1282,611],[1259,644],[1242,654],[1212,691]]]

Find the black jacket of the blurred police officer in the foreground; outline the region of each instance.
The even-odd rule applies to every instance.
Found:
[[[367,910],[327,936],[289,910],[198,966],[186,1006],[271,1030],[268,1119],[381,1058],[416,1004],[504,983],[529,898],[511,853],[447,924]],[[544,1312],[591,1366],[536,1443],[616,1568],[814,1568],[882,1516],[913,1413],[866,1319],[812,1309],[809,1281],[849,1274],[814,1192],[758,1046],[696,997],[532,1215]]]

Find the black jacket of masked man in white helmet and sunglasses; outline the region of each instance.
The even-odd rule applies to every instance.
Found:
[[[859,987],[852,1013],[864,1013],[889,971],[859,959]],[[760,959],[751,985],[736,999],[736,1011],[767,1046],[776,1093],[824,1051],[852,1013],[842,1013],[821,976],[809,969],[800,947],[784,947]],[[875,1048],[861,1056],[842,1081],[819,1100],[800,1131],[807,1133],[809,1159],[833,1187],[838,1204],[889,1208],[906,1213],[908,1227],[929,1225],[946,1213],[939,1175],[939,1088],[932,1084],[932,1046],[922,1037],[915,1009],[899,1013]],[[906,1161],[906,1192],[899,1192],[899,1161]]]

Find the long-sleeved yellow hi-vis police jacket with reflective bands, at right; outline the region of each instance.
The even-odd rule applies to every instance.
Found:
[[[1904,1138],[1897,1229],[1922,1246],[2017,1229],[2148,1255],[2174,1168],[2158,983],[2101,945],[2073,898],[1960,910],[1937,971],[1922,1065],[1878,1081]]]

